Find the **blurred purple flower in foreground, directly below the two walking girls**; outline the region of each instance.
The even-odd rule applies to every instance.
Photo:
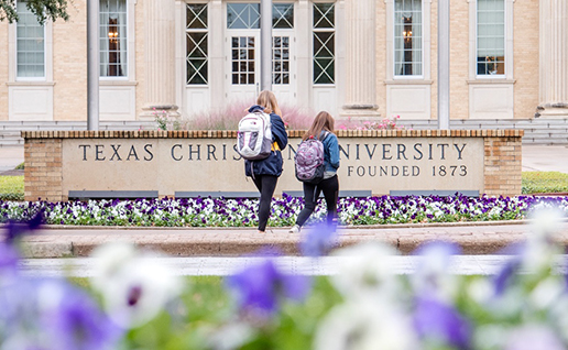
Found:
[[[306,276],[284,274],[271,259],[245,267],[227,280],[247,315],[259,318],[272,316],[283,298],[302,300],[309,292]]]

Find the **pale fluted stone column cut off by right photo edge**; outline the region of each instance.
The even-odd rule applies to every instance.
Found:
[[[537,117],[568,117],[568,2],[540,0]]]

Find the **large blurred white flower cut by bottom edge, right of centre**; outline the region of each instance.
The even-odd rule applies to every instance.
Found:
[[[359,299],[332,308],[319,324],[314,349],[419,349],[409,317],[384,302]]]

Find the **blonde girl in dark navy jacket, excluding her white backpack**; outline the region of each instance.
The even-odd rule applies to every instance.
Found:
[[[260,192],[259,203],[259,233],[264,233],[270,217],[270,207],[274,189],[282,174],[282,150],[288,144],[286,128],[282,121],[276,97],[272,91],[264,90],[259,95],[256,105],[249,108],[249,112],[264,111],[270,114],[272,129],[272,152],[269,157],[258,161],[244,161],[244,173],[252,177]]]

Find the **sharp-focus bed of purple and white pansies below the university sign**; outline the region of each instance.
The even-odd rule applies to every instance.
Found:
[[[568,197],[368,197],[341,198],[341,225],[384,225],[517,220],[533,206],[554,204],[568,212]],[[26,220],[43,210],[46,223],[86,226],[156,227],[253,227],[255,199],[136,199],[68,203],[0,201],[0,221]],[[303,199],[284,196],[272,203],[271,227],[292,226],[303,208]],[[323,201],[313,220],[326,214]]]

